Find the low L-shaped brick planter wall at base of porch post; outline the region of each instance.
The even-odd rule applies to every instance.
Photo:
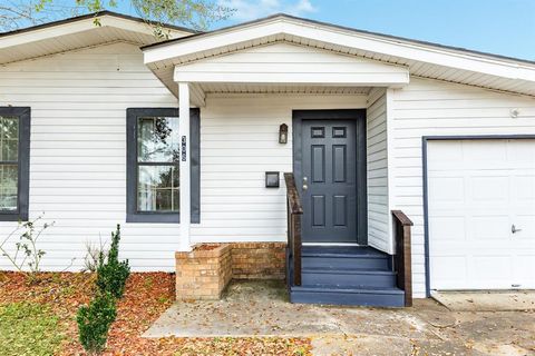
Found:
[[[176,253],[176,299],[218,299],[232,278],[283,279],[284,243],[203,244]]]

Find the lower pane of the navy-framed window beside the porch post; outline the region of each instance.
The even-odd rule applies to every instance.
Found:
[[[139,166],[137,184],[138,211],[178,211],[178,168]]]

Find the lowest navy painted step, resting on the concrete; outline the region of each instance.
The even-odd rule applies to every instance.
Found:
[[[290,288],[290,301],[303,304],[353,305],[372,307],[402,307],[405,296],[397,288],[332,288],[331,286],[301,286]]]

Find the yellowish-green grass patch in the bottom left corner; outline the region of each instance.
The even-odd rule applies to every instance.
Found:
[[[52,355],[62,335],[59,318],[40,304],[11,303],[0,306],[0,349],[11,355]]]

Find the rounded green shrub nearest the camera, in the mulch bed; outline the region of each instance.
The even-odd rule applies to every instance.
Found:
[[[89,355],[100,354],[106,346],[109,327],[117,316],[115,301],[109,293],[99,293],[88,306],[78,309],[79,339]]]

